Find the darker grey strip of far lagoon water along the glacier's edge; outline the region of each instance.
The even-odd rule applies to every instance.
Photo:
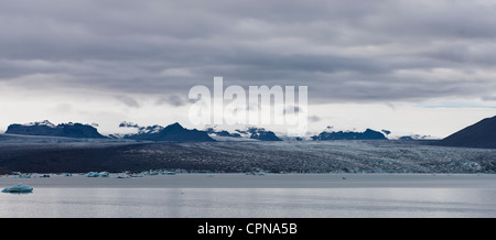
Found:
[[[83,175],[0,177],[34,188],[496,188],[496,174],[176,174],[117,178]]]

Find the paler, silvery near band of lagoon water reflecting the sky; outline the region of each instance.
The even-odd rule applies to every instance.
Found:
[[[0,217],[496,217],[496,189],[36,188]]]

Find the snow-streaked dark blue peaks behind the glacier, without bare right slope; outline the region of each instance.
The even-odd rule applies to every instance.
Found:
[[[93,123],[63,123],[55,126],[48,120],[30,122],[25,124],[11,124],[6,133],[24,135],[48,135],[67,138],[107,138],[98,133]],[[205,130],[187,130],[180,123],[168,127],[159,124],[142,127],[133,122],[122,121],[119,131],[108,135],[109,139],[147,140],[147,141],[324,141],[324,140],[432,140],[430,135],[413,133],[397,133],[390,130],[375,131],[366,129],[359,131],[343,130],[327,127],[320,133],[309,133],[304,138],[290,138],[283,133],[279,135],[263,128],[247,127],[245,130],[236,129],[227,131],[217,127],[208,127]]]

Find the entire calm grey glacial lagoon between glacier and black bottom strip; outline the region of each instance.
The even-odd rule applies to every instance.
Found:
[[[496,217],[496,175],[177,174],[0,177],[1,218]]]

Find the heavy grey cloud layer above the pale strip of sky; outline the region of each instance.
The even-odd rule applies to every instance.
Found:
[[[496,91],[494,15],[490,1],[4,0],[0,81],[186,96],[223,76],[306,85],[311,102],[482,98]]]

